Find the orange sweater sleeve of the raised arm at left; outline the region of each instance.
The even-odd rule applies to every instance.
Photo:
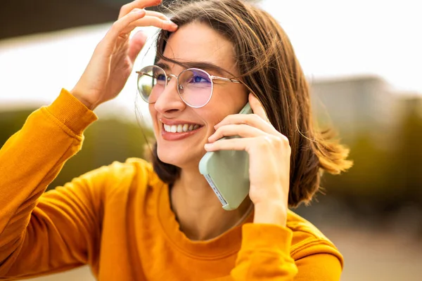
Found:
[[[95,120],[94,112],[63,89],[1,148],[0,280],[87,263],[99,208],[93,206],[98,195],[87,188],[91,183],[82,177],[44,191],[79,151],[82,132]]]

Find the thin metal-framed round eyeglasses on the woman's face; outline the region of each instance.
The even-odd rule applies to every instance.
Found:
[[[138,74],[138,91],[147,103],[155,103],[172,77],[177,79],[177,93],[186,105],[194,108],[203,107],[212,97],[214,80],[241,83],[236,79],[210,75],[205,70],[189,68],[179,76],[168,74],[157,65],[143,67]]]

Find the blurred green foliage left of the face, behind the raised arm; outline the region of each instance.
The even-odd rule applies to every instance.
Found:
[[[18,131],[32,110],[0,112],[0,146]],[[49,188],[114,161],[143,157],[146,139],[153,138],[151,129],[120,119],[98,119],[84,132],[82,150],[70,158]]]

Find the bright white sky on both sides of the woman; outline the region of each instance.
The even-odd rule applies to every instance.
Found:
[[[264,0],[262,6],[286,30],[308,77],[378,74],[398,91],[422,94],[418,1]],[[62,87],[72,89],[110,25],[0,41],[0,110],[48,104]],[[136,70],[147,64],[141,58]],[[103,110],[133,115],[135,79]]]

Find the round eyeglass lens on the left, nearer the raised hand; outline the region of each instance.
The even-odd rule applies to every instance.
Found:
[[[138,91],[141,98],[147,103],[155,103],[164,91],[166,75],[164,70],[158,66],[143,67],[138,75]]]

